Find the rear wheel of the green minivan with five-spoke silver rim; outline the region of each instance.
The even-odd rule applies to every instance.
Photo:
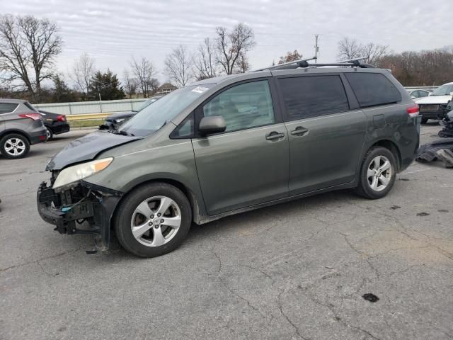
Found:
[[[377,159],[379,159],[379,166],[377,166]],[[389,168],[384,166],[386,162],[389,162]],[[385,147],[372,147],[363,159],[356,193],[370,200],[383,198],[391,191],[395,179],[396,159],[394,154]]]

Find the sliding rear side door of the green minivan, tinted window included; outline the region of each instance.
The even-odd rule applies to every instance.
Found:
[[[289,132],[289,195],[350,183],[367,119],[351,110],[338,74],[278,79]]]

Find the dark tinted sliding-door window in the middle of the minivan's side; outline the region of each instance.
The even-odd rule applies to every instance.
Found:
[[[348,97],[339,76],[281,78],[279,84],[287,120],[349,110]]]

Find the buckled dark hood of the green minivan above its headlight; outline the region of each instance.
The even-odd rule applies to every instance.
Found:
[[[89,161],[101,152],[143,137],[115,135],[100,130],[70,142],[56,154],[46,166],[46,170],[61,170],[70,164]]]

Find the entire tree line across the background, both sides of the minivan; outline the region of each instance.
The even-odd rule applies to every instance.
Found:
[[[217,27],[194,50],[179,45],[166,55],[163,74],[176,87],[221,74],[247,72],[248,52],[256,45],[253,29],[239,23],[231,30]],[[56,23],[33,16],[0,16],[0,97],[27,98],[33,103],[147,98],[158,91],[157,69],[151,60],[131,57],[122,79],[83,53],[69,74],[55,72],[64,42]],[[338,42],[338,60],[362,57],[364,62],[391,69],[404,86],[435,86],[453,80],[453,45],[420,52],[392,52],[387,45],[354,38]],[[278,63],[302,59],[297,50]],[[70,79],[74,86],[69,86]],[[43,85],[44,84],[44,85]]]

